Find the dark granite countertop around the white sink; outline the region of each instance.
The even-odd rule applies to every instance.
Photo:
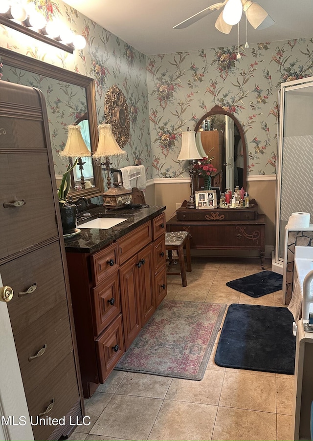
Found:
[[[80,218],[77,228],[80,228],[82,223],[94,219],[97,215],[100,215],[99,217],[125,217],[127,220],[106,230],[81,228],[79,234],[65,238],[65,249],[67,252],[93,253],[99,251],[145,222],[158,216],[165,208],[164,206],[156,206],[136,210],[107,210],[104,207],[97,207],[89,210],[88,212],[93,217]]]

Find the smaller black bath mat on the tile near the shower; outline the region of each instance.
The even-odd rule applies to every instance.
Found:
[[[273,271],[261,271],[260,273],[232,280],[227,282],[226,285],[236,291],[250,295],[250,297],[261,297],[262,295],[281,290],[283,287],[283,276]]]

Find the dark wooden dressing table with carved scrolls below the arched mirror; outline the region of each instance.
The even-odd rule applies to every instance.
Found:
[[[166,224],[167,231],[189,231],[195,250],[258,250],[261,267],[265,256],[265,214],[250,207],[236,209],[188,209],[181,207]]]

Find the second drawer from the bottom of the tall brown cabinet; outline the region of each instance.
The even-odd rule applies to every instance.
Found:
[[[73,350],[67,300],[28,326],[27,331],[14,335],[26,395],[41,383]],[[36,358],[45,347],[45,352]]]

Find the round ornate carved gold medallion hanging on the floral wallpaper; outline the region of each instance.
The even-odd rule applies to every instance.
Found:
[[[111,124],[113,135],[119,147],[123,148],[129,140],[129,110],[124,93],[117,85],[110,87],[104,99],[106,123]]]

